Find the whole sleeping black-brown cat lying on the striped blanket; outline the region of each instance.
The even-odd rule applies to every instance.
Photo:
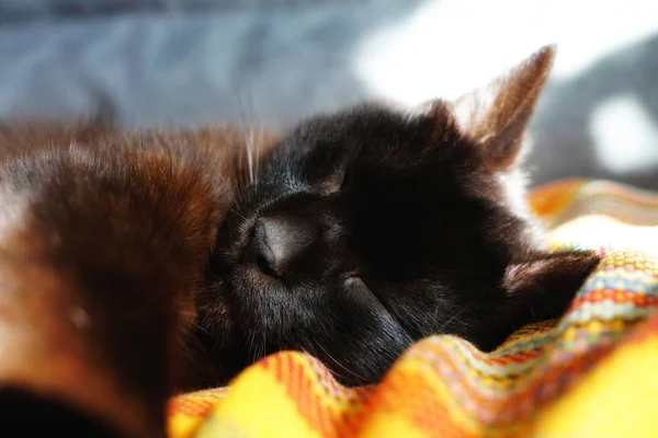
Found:
[[[36,327],[0,319],[0,411],[46,418],[66,400],[121,435],[161,436],[168,395],[270,353],[372,383],[423,336],[489,350],[559,316],[599,256],[549,253],[523,199],[552,60],[544,48],[454,103],[305,120],[268,141],[249,184],[232,183],[224,134],[5,128],[5,149],[31,152],[3,158],[0,194],[18,207],[0,221],[2,281],[46,298],[0,307]],[[22,371],[37,360],[55,371]]]

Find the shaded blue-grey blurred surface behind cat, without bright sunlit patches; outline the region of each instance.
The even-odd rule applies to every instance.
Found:
[[[0,117],[75,118],[106,100],[131,126],[284,127],[376,97],[354,72],[353,48],[420,3],[0,0]],[[658,188],[658,165],[602,165],[587,129],[598,104],[620,92],[658,120],[657,54],[648,38],[549,83],[533,125],[535,183],[589,176]]]

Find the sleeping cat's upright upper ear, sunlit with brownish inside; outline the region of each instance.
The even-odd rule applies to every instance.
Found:
[[[449,104],[461,134],[483,148],[489,168],[504,170],[520,158],[554,57],[554,46],[543,47],[507,76]]]

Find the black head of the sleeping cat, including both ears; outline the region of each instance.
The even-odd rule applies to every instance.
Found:
[[[564,311],[595,261],[544,252],[519,169],[553,56],[457,102],[293,129],[219,231],[200,321],[217,345],[246,361],[303,349],[364,383],[420,337],[489,349]],[[552,298],[555,283],[570,290]]]

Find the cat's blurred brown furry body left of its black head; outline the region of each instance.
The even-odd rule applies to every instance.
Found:
[[[1,384],[162,436],[245,136],[0,129]]]

